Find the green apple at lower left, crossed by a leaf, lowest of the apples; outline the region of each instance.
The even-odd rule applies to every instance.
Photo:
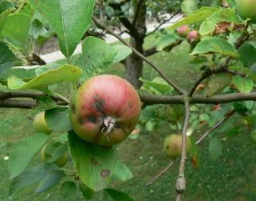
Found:
[[[49,143],[46,143],[45,146],[41,149],[41,161],[45,162],[48,158],[53,156],[54,151],[57,148],[60,148],[63,143],[60,141],[50,141]],[[56,161],[54,161],[54,164],[62,167],[68,162],[68,152],[65,152],[60,158],[58,158]]]

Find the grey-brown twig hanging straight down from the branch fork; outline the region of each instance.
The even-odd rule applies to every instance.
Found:
[[[186,162],[186,139],[187,139],[187,131],[188,131],[188,124],[190,120],[190,102],[188,99],[185,99],[185,120],[184,120],[184,126],[182,129],[182,156],[179,163],[179,175],[177,177],[176,181],[176,201],[179,201],[181,198],[181,195],[184,193],[186,189],[186,178],[185,178],[185,162]]]

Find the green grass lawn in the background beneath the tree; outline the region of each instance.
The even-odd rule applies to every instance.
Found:
[[[146,41],[146,46],[154,38]],[[183,87],[190,87],[198,76],[196,66],[188,64],[190,56],[188,44],[175,47],[171,53],[156,53],[150,60],[160,66],[169,76]],[[182,60],[180,59],[182,58]],[[75,57],[72,58],[72,61]],[[63,61],[62,61],[63,62]],[[106,73],[123,75],[123,66],[116,64]],[[156,72],[148,65],[144,68],[144,78],[152,79]],[[0,109],[0,200],[7,201],[9,173],[7,161],[11,150],[26,136],[33,135],[28,117],[35,115],[33,110]],[[146,187],[146,183],[169,164],[163,153],[163,139],[169,135],[169,129],[163,127],[159,131],[144,132],[137,139],[127,139],[120,146],[120,158],[133,172],[133,179],[125,183],[112,181],[110,187],[130,194],[137,201],[173,200],[175,196],[175,179],[178,164]],[[198,136],[192,136],[196,139]],[[225,137],[225,136],[221,136]],[[183,201],[254,201],[256,200],[256,143],[251,141],[249,133],[240,133],[229,140],[223,140],[223,155],[219,160],[212,160],[208,151],[208,140],[200,147],[200,165],[194,169],[191,162],[186,166],[187,191]],[[102,194],[95,196],[94,201],[102,200]],[[36,195],[33,187],[19,192],[14,201],[57,201],[60,200],[60,186],[48,192]],[[79,199],[81,200],[81,199]]]

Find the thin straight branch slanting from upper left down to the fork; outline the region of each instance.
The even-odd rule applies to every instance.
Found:
[[[147,64],[149,64],[150,66],[152,66],[152,68],[154,68],[154,70],[156,70],[156,72],[158,72],[158,74],[160,74],[163,79],[165,79],[165,81],[167,81],[167,83],[169,83],[169,85],[171,85],[179,94],[186,94],[186,90],[182,89],[181,87],[179,87],[178,85],[176,85],[173,80],[171,80],[169,78],[169,76],[167,76],[160,68],[158,68],[155,64],[153,64],[150,60],[148,60],[144,55],[142,55],[139,51],[137,51],[134,47],[132,47],[131,45],[129,45],[128,43],[125,42],[124,39],[122,39],[122,37],[120,37],[119,35],[116,35],[112,30],[110,30],[108,27],[106,27],[104,24],[102,24],[101,22],[99,22],[99,20],[95,17],[92,17],[93,21],[95,22],[95,24],[97,24],[98,27],[106,30],[106,32],[108,32],[110,35],[113,35],[114,37],[116,37],[117,39],[119,39],[119,41],[121,41],[123,44],[127,45],[128,47],[130,47],[133,52],[138,55],[140,58],[142,58],[142,60],[144,60]]]

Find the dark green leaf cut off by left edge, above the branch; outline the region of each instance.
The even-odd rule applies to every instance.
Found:
[[[5,43],[0,42],[0,73],[12,68],[16,62],[16,55]]]

